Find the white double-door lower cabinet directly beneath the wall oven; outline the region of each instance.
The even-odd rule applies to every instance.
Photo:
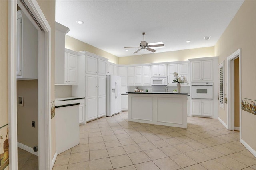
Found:
[[[191,114],[193,116],[213,116],[213,100],[202,100],[202,99],[192,99],[191,100]]]

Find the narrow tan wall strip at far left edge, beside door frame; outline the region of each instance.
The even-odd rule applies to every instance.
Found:
[[[8,124],[8,1],[0,0],[0,127]],[[7,126],[0,129],[0,154],[4,153]],[[7,136],[8,138],[8,136]],[[1,167],[1,166],[0,166]],[[5,168],[6,170],[9,167]]]

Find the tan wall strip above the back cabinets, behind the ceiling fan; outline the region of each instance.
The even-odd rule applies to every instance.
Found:
[[[142,64],[158,63],[167,61],[186,61],[192,58],[213,57],[214,47],[204,47],[197,49],[186,49],[178,51],[169,51],[163,53],[150,53],[144,55],[134,55],[119,57],[119,64]]]

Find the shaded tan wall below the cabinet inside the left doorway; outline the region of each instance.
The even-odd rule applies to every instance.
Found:
[[[23,106],[17,105],[18,142],[33,148],[38,145],[37,80],[17,81],[17,96],[23,96]],[[32,121],[36,127],[32,127]]]

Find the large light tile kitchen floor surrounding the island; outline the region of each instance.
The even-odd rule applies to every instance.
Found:
[[[217,119],[188,117],[188,128],[129,122],[127,112],[80,125],[80,144],[53,170],[256,170],[256,158]]]

